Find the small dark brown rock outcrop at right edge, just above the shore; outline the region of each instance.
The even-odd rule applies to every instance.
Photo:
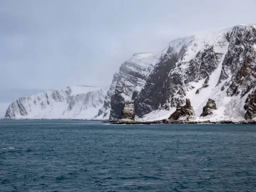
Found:
[[[244,118],[246,120],[256,118],[256,90],[253,94],[248,96],[248,101],[246,103],[245,109],[246,113],[244,115]]]

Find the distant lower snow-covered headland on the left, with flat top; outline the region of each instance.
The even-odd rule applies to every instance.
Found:
[[[92,119],[102,107],[109,87],[72,86],[20,97],[5,118]]]

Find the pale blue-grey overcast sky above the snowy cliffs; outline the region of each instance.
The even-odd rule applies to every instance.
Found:
[[[0,88],[105,86],[135,52],[256,23],[255,0],[0,0]]]

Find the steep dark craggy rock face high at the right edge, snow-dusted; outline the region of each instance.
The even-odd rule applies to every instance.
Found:
[[[227,33],[230,41],[228,52],[223,61],[219,82],[228,79],[231,72],[232,77],[226,87],[227,95],[241,95],[243,97],[256,84],[256,28],[254,26],[236,26],[233,31]]]

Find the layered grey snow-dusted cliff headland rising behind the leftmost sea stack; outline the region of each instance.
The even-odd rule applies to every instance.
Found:
[[[110,100],[110,120],[121,118],[125,102],[131,100],[133,92],[141,91],[155,62],[153,53],[138,53],[121,65]]]

